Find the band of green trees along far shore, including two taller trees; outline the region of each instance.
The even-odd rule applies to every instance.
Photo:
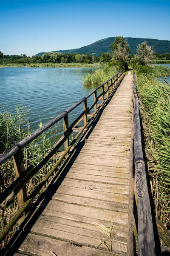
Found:
[[[108,62],[109,66],[116,66],[118,70],[123,68],[127,69],[129,64],[133,67],[136,64],[148,65],[154,62],[156,58],[169,59],[170,53],[154,54],[147,42],[137,46],[137,54],[130,54],[131,49],[123,37],[117,36],[111,44],[109,52],[103,52],[100,57],[86,54],[77,53],[61,53],[61,52],[46,52],[42,56],[26,56],[21,55],[3,55],[0,52],[1,64],[31,64],[31,63],[95,63],[95,62]]]

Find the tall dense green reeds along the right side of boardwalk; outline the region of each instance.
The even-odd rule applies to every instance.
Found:
[[[150,188],[156,216],[170,229],[170,84],[157,77],[170,75],[170,68],[152,66],[152,73],[138,73]]]

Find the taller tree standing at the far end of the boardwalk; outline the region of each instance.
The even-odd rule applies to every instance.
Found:
[[[130,54],[130,46],[123,36],[116,36],[115,41],[111,44],[111,50],[113,52],[113,59],[118,66],[128,67],[128,55]]]

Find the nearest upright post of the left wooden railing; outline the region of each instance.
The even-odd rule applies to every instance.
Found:
[[[15,170],[15,178],[19,177],[22,172],[24,172],[24,160],[23,160],[23,151],[20,149],[14,156],[14,170]],[[27,200],[27,193],[26,193],[26,186],[17,193],[17,201],[18,207],[20,208],[21,205]]]

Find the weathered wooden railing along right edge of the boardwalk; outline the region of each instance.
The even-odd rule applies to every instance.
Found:
[[[139,99],[136,93],[136,75],[133,70],[133,107],[134,107],[134,143],[135,199],[137,201],[139,256],[156,256],[153,234],[152,214],[147,188],[145,163],[143,159]]]

